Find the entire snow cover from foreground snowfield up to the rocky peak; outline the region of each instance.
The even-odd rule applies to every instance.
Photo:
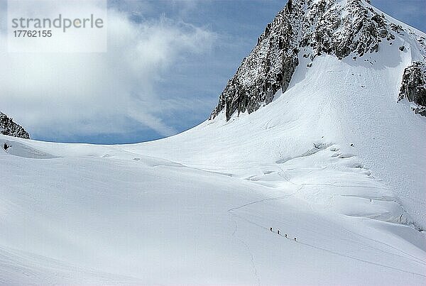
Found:
[[[405,33],[356,59],[301,48],[267,106],[160,141],[0,136],[0,282],[424,285],[426,118],[397,102],[424,54]]]

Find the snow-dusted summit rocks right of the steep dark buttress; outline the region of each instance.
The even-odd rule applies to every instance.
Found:
[[[346,5],[336,1],[307,1],[300,46],[314,50],[311,58],[326,53],[339,59],[349,54],[362,57],[378,52],[388,27],[383,15],[368,9],[361,0],[349,0]]]

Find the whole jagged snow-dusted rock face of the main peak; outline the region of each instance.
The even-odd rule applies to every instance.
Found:
[[[288,88],[299,53],[314,60],[322,54],[339,59],[377,53],[403,27],[389,23],[365,0],[289,0],[229,79],[209,119],[225,109],[226,120],[235,112],[250,114]],[[411,97],[411,95],[410,95]]]

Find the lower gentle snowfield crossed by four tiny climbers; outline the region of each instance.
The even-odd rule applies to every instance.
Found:
[[[341,153],[334,145],[278,164],[200,170],[124,150],[131,146],[1,139],[62,155],[0,153],[8,172],[0,187],[2,282],[421,285],[426,279],[424,234],[366,219],[388,220],[383,214],[395,216],[399,206],[381,182],[349,167],[352,158],[334,156]]]

